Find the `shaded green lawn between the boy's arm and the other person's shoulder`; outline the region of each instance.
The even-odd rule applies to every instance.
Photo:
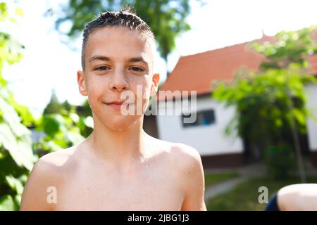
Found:
[[[309,183],[317,183],[317,177],[309,177]],[[276,193],[283,186],[300,183],[298,177],[285,180],[274,180],[268,176],[260,176],[238,184],[232,191],[217,195],[211,202],[206,203],[207,210],[236,211],[236,210],[264,210],[267,204],[258,201],[259,187],[268,188],[268,197]]]

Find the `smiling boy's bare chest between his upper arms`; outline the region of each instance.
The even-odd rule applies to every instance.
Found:
[[[164,169],[76,173],[59,193],[57,210],[180,210],[181,182]]]

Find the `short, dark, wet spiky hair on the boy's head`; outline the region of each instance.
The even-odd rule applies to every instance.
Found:
[[[155,40],[151,27],[135,14],[132,6],[125,6],[119,11],[100,13],[96,19],[85,25],[85,30],[82,34],[82,70],[85,70],[85,51],[89,35],[94,30],[106,26],[128,27],[130,30],[137,30],[145,34],[149,39]]]

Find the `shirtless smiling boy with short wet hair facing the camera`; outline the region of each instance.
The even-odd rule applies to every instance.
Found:
[[[142,129],[159,84],[150,27],[128,8],[101,13],[83,37],[77,83],[88,96],[94,131],[36,163],[20,210],[206,210],[197,150]],[[137,100],[123,102],[125,92]],[[142,113],[133,114],[139,99]],[[132,115],[123,115],[123,106]]]

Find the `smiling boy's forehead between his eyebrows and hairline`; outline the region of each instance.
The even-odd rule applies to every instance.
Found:
[[[151,41],[145,34],[129,30],[128,27],[100,27],[89,35],[86,60],[106,54],[111,54],[107,57],[113,58],[142,57],[144,60],[153,60]]]

